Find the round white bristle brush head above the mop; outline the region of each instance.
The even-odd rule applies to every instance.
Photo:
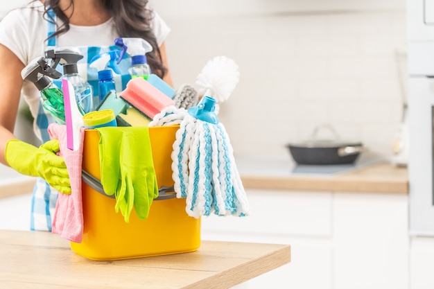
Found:
[[[235,89],[240,73],[234,60],[226,56],[216,56],[209,60],[196,79],[199,94],[211,96],[217,103],[229,98]]]

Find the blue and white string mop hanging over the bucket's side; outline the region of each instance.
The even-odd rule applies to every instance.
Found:
[[[186,198],[189,216],[248,216],[248,199],[229,136],[214,113],[215,103],[214,98],[204,96],[188,111],[168,107],[150,126],[182,119],[173,143],[172,178],[177,198]]]

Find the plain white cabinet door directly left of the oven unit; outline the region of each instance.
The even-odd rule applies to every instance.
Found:
[[[408,288],[408,195],[334,193],[333,245],[335,289]]]

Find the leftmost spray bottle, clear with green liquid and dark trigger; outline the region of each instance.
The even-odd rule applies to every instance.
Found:
[[[46,58],[37,58],[22,71],[23,80],[33,82],[42,96],[42,105],[57,123],[64,124],[64,100],[62,89],[57,87],[50,78],[60,78],[62,73],[49,67]],[[49,78],[50,77],[50,78]]]

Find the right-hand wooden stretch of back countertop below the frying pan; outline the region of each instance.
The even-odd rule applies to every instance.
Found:
[[[245,189],[278,189],[295,191],[340,191],[356,193],[408,193],[408,170],[380,162],[335,175],[297,175],[243,173]]]

